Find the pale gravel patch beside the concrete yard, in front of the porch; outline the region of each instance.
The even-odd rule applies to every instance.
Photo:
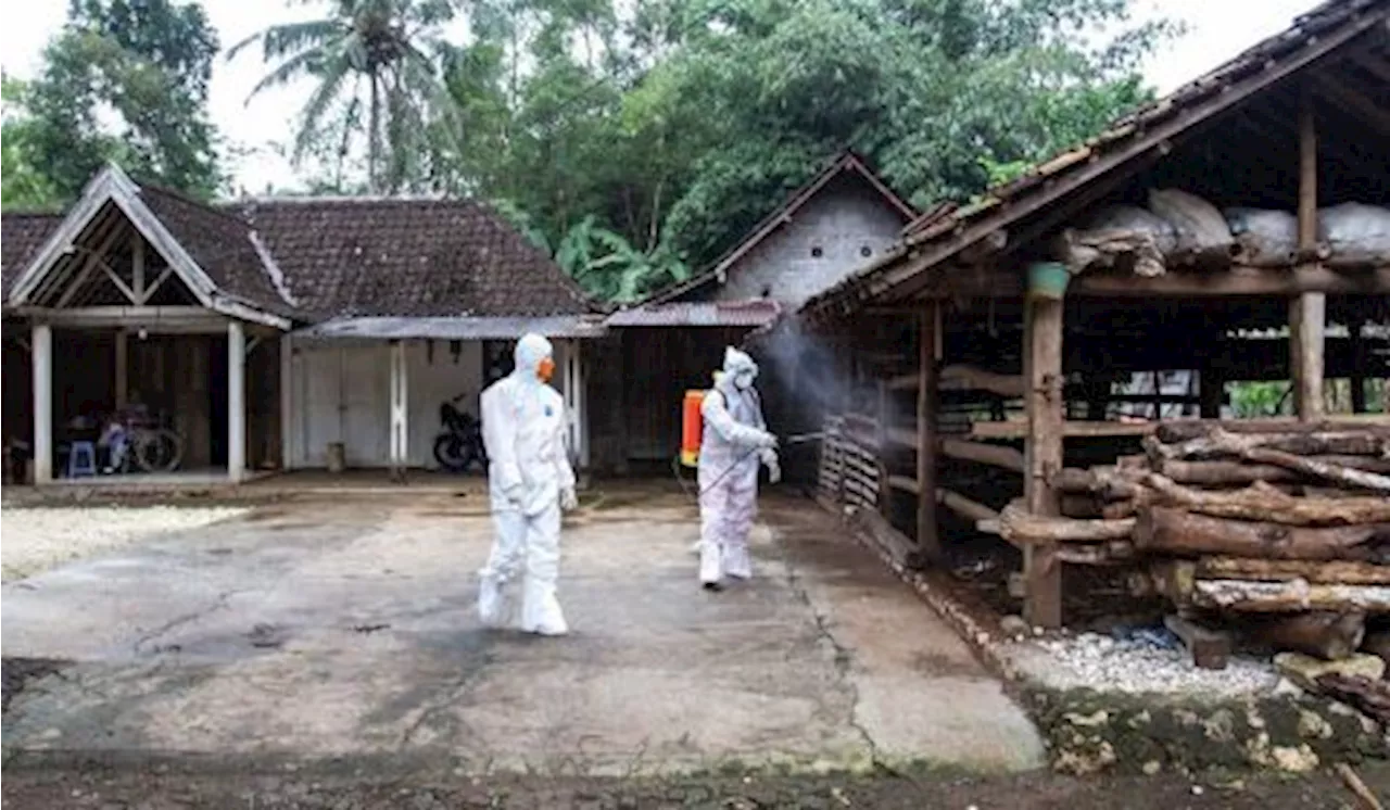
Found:
[[[0,582],[165,532],[197,529],[249,513],[242,507],[0,507]]]

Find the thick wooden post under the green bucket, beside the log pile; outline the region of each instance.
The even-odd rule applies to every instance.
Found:
[[[1033,514],[1062,514],[1052,474],[1062,470],[1062,313],[1061,300],[1031,299],[1023,324],[1023,374],[1027,378],[1029,435],[1024,440],[1027,475],[1024,499]],[[1024,618],[1034,627],[1062,624],[1062,564],[1056,543],[1029,543],[1023,549],[1027,581]]]

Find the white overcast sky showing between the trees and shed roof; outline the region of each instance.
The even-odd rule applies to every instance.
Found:
[[[1155,54],[1145,74],[1159,93],[1236,56],[1261,39],[1286,28],[1294,17],[1322,0],[1141,0],[1141,15],[1163,15],[1187,24],[1187,35]],[[22,79],[39,69],[43,44],[63,25],[67,0],[28,0],[24,14],[10,14],[0,26],[0,69]],[[279,22],[313,18],[327,3],[286,0],[203,0],[224,47]],[[295,113],[309,89],[303,85],[271,90],[247,101],[265,67],[256,49],[236,60],[218,60],[213,71],[210,108],[213,122],[236,146],[229,161],[235,185],[250,193],[267,185],[300,185],[293,168],[275,149],[293,131]]]

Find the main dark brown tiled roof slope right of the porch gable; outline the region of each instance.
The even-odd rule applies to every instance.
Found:
[[[559,265],[474,201],[286,197],[238,210],[310,320],[595,311]]]

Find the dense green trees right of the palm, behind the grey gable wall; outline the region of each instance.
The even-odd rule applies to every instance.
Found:
[[[366,1],[366,0],[356,0]],[[423,186],[496,200],[588,289],[724,251],[845,146],[969,199],[1151,97],[1133,0],[471,0]],[[324,149],[328,149],[325,144]]]

